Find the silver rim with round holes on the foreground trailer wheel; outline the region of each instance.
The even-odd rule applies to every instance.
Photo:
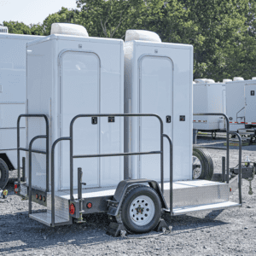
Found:
[[[144,226],[154,218],[154,211],[154,201],[147,195],[140,195],[131,203],[131,221],[138,226]]]

